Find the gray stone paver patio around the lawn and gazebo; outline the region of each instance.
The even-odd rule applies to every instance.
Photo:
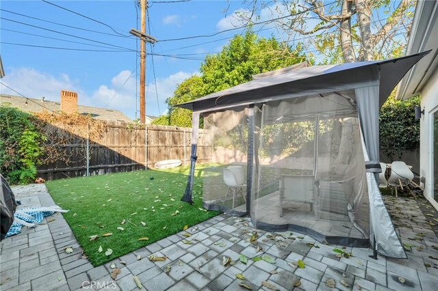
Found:
[[[51,206],[54,204],[44,184],[18,186],[13,189],[23,206]],[[143,290],[240,290],[241,282],[253,290],[268,290],[262,286],[267,281],[278,290],[435,290],[438,283],[438,238],[428,219],[435,210],[427,207],[422,199],[385,196],[385,203],[393,217],[394,225],[407,252],[408,259],[369,257],[370,249],[347,248],[352,257],[337,258],[335,246],[315,242],[313,238],[290,240],[290,232],[279,241],[271,240],[263,230],[251,227],[248,218],[240,219],[221,214],[190,227],[192,245],[182,241],[188,238],[181,233],[159,240],[133,253],[94,268],[82,256],[73,232],[62,217],[54,214],[35,228],[23,227],[21,234],[5,238],[0,244],[1,290],[139,290],[133,280],[137,276]],[[422,208],[428,209],[424,216]],[[433,214],[430,214],[433,213]],[[54,219],[54,220],[53,220]],[[436,224],[437,222],[435,222]],[[257,232],[258,245],[249,243],[246,232]],[[280,233],[281,234],[281,233]],[[286,235],[287,234],[287,235]],[[300,236],[294,234],[294,236]],[[220,245],[215,244],[218,241]],[[315,243],[319,248],[307,243]],[[65,253],[66,246],[73,253]],[[240,262],[243,253],[248,263]],[[275,264],[250,258],[266,253]],[[151,262],[147,256],[166,256],[165,262]],[[137,260],[137,255],[142,259]],[[224,267],[222,258],[231,257],[233,266]],[[302,260],[305,268],[289,264]],[[125,261],[126,265],[120,264]],[[111,265],[121,273],[112,280]],[[166,274],[167,266],[171,266]],[[236,279],[242,273],[245,280]],[[405,279],[400,283],[399,277]],[[335,288],[326,286],[327,279],[335,279]],[[345,286],[342,283],[343,281]],[[244,290],[244,289],[242,289]]]

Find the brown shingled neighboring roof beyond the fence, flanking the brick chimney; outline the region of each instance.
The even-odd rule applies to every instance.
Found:
[[[29,99],[29,101],[27,101],[26,105],[27,99]],[[5,94],[0,94],[0,103],[1,105],[3,105],[3,103],[10,103],[11,106],[27,112],[60,111],[61,108],[60,102],[49,100],[42,101],[41,99],[25,98]],[[131,119],[127,117],[127,115],[114,109],[77,105],[77,111],[81,114],[90,114],[91,117],[96,118],[96,120],[131,122]]]

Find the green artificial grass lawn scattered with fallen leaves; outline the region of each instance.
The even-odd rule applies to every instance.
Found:
[[[196,165],[202,170],[203,165]],[[99,266],[218,215],[200,210],[202,180],[195,173],[192,199],[181,202],[189,167],[166,171],[148,169],[46,182],[55,203],[93,266]],[[154,180],[151,180],[153,176]],[[176,213],[176,214],[175,214]],[[173,214],[173,215],[172,215]],[[121,225],[120,222],[126,220]],[[142,226],[141,221],[146,223]],[[124,230],[118,230],[123,227]],[[112,236],[102,236],[112,233]],[[89,236],[99,235],[96,240]],[[138,240],[142,237],[149,240]],[[102,246],[103,251],[98,249]],[[112,255],[105,255],[112,249]]]

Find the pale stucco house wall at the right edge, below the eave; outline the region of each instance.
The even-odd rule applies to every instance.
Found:
[[[420,120],[420,176],[426,178],[424,197],[430,199],[433,195],[433,113],[438,109],[438,72],[435,72],[422,89],[421,107],[424,117]],[[436,152],[435,154],[438,154]],[[435,173],[438,175],[438,173]],[[438,209],[438,197],[431,201]]]

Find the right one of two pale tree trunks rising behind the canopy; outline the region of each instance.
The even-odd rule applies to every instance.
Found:
[[[374,59],[370,27],[371,11],[368,4],[368,0],[356,0],[359,29],[361,31],[361,61],[372,61]]]

